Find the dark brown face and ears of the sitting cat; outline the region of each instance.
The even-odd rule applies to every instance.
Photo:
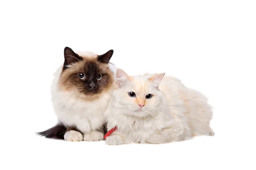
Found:
[[[113,86],[114,79],[108,63],[113,50],[102,55],[79,56],[71,48],[64,49],[64,65],[59,81],[60,88],[78,98],[104,96]]]

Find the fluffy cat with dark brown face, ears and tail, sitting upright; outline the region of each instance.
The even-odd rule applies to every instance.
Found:
[[[103,140],[103,113],[115,82],[112,55],[113,50],[97,55],[64,48],[64,64],[55,72],[51,89],[58,123],[38,135],[74,142]]]

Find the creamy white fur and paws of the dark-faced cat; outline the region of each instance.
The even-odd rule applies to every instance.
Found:
[[[81,57],[96,57],[93,52],[78,52]],[[93,101],[84,101],[77,99],[72,95],[73,92],[60,91],[58,89],[58,81],[62,71],[63,65],[61,65],[54,74],[52,82],[52,104],[58,120],[67,126],[76,125],[76,127],[84,134],[90,133],[91,131],[97,130],[102,127],[105,116],[104,112],[107,108],[108,102],[112,96],[112,91],[104,94],[104,99],[96,99]],[[115,67],[111,66],[111,71],[115,72]],[[77,132],[79,133],[79,132]],[[81,141],[83,137],[79,134],[74,134],[72,131],[65,133],[64,139],[67,141]],[[97,136],[93,135],[84,137],[85,141],[98,141],[103,140],[103,133],[96,132]],[[92,134],[96,134],[92,133]],[[75,136],[75,137],[74,137]]]

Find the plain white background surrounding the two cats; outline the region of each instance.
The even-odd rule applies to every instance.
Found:
[[[255,170],[255,1],[1,1],[0,19],[0,169]],[[178,77],[208,96],[216,135],[119,146],[36,136],[57,121],[50,85],[65,46]]]

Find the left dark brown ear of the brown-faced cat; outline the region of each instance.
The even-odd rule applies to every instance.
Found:
[[[64,48],[64,68],[67,68],[68,65],[73,64],[75,62],[79,62],[82,60],[82,57],[77,55],[71,48]]]

